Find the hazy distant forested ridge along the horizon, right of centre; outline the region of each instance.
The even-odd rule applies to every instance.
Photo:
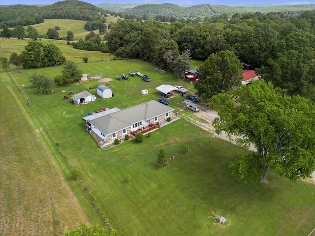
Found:
[[[211,16],[213,14],[234,14],[234,13],[253,13],[261,12],[268,13],[271,11],[294,13],[299,14],[305,10],[315,10],[315,4],[301,4],[301,5],[277,5],[277,6],[228,6],[228,5],[210,5],[201,4],[194,5],[190,7],[181,7],[176,4],[164,3],[164,4],[145,4],[139,5],[132,9],[124,11],[126,14],[136,14],[136,15],[148,15],[148,16],[176,16],[178,18],[191,17],[196,18],[200,16]]]

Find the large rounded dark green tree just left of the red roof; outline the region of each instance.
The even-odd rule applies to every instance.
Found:
[[[241,85],[243,79],[243,63],[232,51],[211,54],[197,71],[199,80],[194,88],[204,99]]]

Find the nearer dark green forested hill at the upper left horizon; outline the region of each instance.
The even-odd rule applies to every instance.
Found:
[[[79,0],[58,1],[52,5],[38,7],[35,5],[11,5],[0,7],[0,28],[28,26],[42,23],[43,19],[93,20],[104,10],[95,5]]]

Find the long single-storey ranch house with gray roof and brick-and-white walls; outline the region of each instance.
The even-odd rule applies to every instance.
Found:
[[[88,130],[101,148],[113,144],[115,139],[124,140],[126,135],[134,137],[136,132],[146,133],[159,128],[157,123],[176,116],[175,109],[154,100],[117,110],[104,111],[104,116],[98,118],[84,117]]]

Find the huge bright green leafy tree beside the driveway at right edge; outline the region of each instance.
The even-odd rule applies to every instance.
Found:
[[[259,80],[213,96],[210,106],[220,116],[214,120],[217,133],[236,135],[237,144],[256,148],[230,163],[238,180],[264,181],[272,168],[295,181],[315,170],[315,105],[305,98],[286,96]]]

